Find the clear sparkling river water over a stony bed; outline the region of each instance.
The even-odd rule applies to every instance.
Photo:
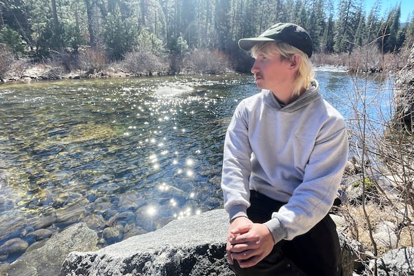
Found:
[[[378,97],[382,81],[323,70],[317,79],[350,122],[362,98],[375,101],[372,116],[378,106],[391,110]],[[80,221],[106,246],[221,208],[226,127],[237,103],[256,92],[246,75],[0,86],[0,246],[14,237],[34,244],[30,233]],[[108,227],[119,235],[103,235]]]

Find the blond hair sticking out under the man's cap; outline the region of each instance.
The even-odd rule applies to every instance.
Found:
[[[292,97],[299,96],[303,89],[309,88],[309,86],[311,86],[311,81],[315,77],[315,71],[313,70],[313,66],[308,55],[298,48],[291,46],[288,43],[284,43],[283,41],[257,43],[251,49],[251,54],[254,58],[258,55],[267,55],[272,57],[279,54],[282,60],[288,61],[291,61],[293,55],[299,55],[301,61],[296,72]]]

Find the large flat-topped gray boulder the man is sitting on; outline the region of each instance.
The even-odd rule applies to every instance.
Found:
[[[227,230],[223,209],[171,221],[95,252],[70,253],[60,275],[234,275],[225,256]],[[351,276],[357,249],[343,235],[340,242],[345,248],[344,276]]]

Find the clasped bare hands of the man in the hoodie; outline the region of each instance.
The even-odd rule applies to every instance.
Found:
[[[273,246],[273,236],[264,224],[255,224],[247,217],[237,217],[231,222],[226,244],[230,264],[237,260],[241,268],[255,266]]]

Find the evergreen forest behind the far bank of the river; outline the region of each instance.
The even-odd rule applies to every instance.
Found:
[[[132,71],[179,72],[212,59],[244,71],[238,39],[277,22],[306,28],[324,55],[410,48],[414,14],[402,19],[400,4],[380,10],[381,1],[364,10],[364,0],[0,0],[0,50],[14,59],[59,57],[66,70],[77,60],[75,67],[128,61]]]

